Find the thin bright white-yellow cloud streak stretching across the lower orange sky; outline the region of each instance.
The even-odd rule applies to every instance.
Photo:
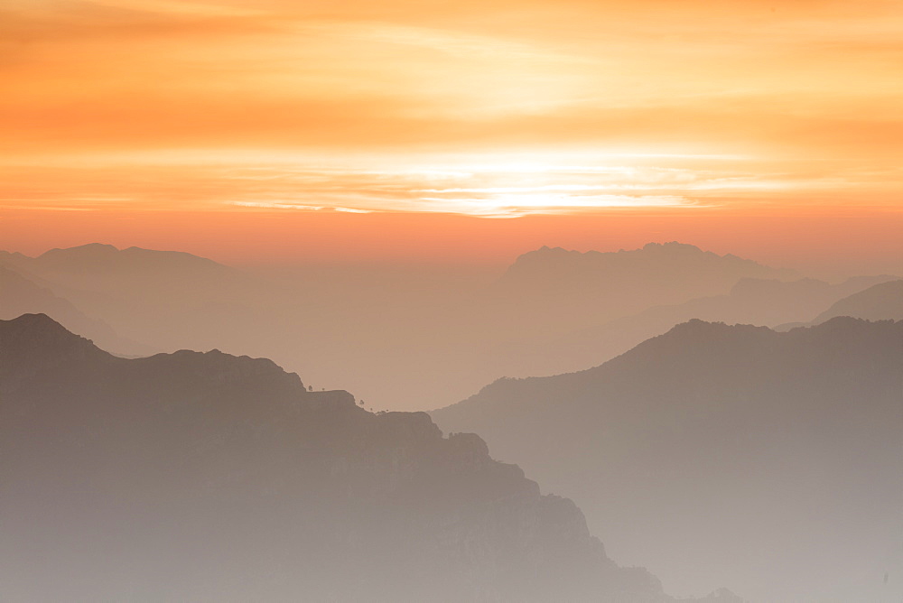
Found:
[[[257,161],[265,155],[258,153]],[[167,157],[166,153],[161,156]],[[420,157],[420,163],[394,163],[391,158],[379,163],[363,158],[357,165],[328,158],[304,165],[315,160],[303,155],[294,155],[293,161],[258,165],[238,159],[240,155],[232,162],[209,158],[206,164],[192,159],[189,164],[176,161],[150,166],[148,159],[135,165],[126,158],[118,168],[103,169],[102,162],[53,169],[18,166],[0,169],[0,176],[15,195],[10,199],[20,199],[15,205],[31,201],[36,208],[68,204],[82,209],[329,209],[475,217],[761,206],[786,199],[799,203],[805,195],[816,193],[824,202],[857,190],[868,191],[880,206],[888,202],[881,200],[881,187],[901,180],[898,170],[844,176],[833,166],[814,171],[805,164],[796,172],[776,172],[750,160],[703,169],[694,167],[693,160],[647,159],[646,165],[631,165],[622,158],[620,165],[602,161],[554,164],[504,153],[487,155],[480,165],[431,161],[429,157]],[[113,188],[118,194],[107,192]],[[0,202],[5,205],[8,209]]]

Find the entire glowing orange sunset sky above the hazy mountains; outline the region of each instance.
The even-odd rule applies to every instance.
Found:
[[[24,253],[903,270],[896,0],[7,0],[0,82]]]

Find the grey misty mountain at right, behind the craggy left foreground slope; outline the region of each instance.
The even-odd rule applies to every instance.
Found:
[[[643,556],[673,592],[903,596],[903,321],[692,320],[432,414],[573,497],[613,555]]]

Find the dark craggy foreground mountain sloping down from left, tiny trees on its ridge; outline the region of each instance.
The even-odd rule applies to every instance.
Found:
[[[0,321],[0,459],[4,600],[674,600],[479,437],[265,359]]]

